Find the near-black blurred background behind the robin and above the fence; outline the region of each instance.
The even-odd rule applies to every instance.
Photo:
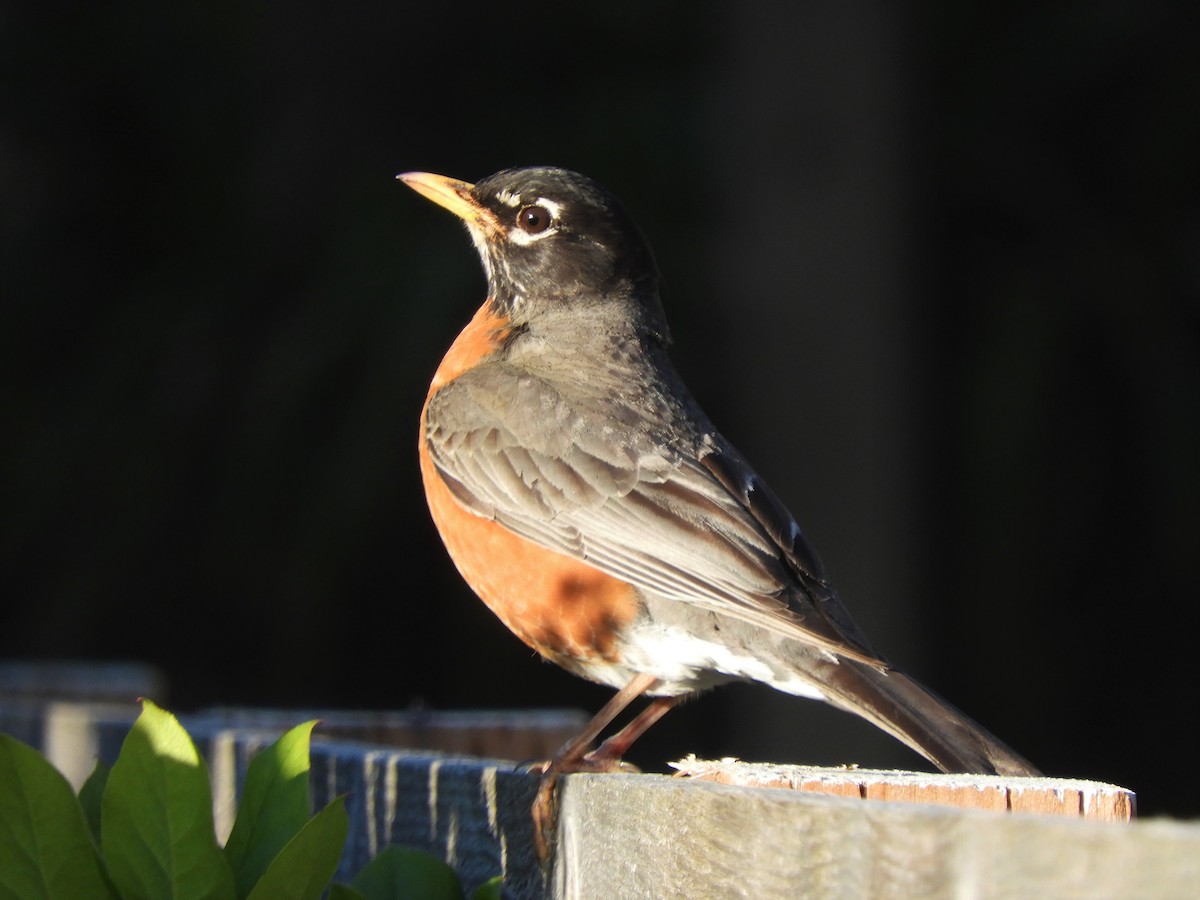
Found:
[[[0,654],[146,660],[179,710],[598,707],[428,522],[484,284],[392,181],[556,163],[642,222],[679,367],[875,643],[1200,814],[1190,11],[750,6],[0,7]],[[690,751],[920,764],[740,685],[634,758]]]

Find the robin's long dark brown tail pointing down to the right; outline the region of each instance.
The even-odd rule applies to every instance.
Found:
[[[827,678],[823,691],[832,703],[883,728],[942,772],[1042,774],[1020,754],[902,672],[844,659],[827,672]]]

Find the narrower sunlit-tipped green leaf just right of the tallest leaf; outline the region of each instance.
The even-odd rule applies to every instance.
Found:
[[[298,725],[250,762],[224,848],[238,896],[251,892],[308,821],[308,738],[316,724]]]

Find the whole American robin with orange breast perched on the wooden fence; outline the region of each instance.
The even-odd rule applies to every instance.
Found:
[[[871,649],[668,360],[658,266],[616,198],[559,168],[398,178],[466,222],[488,283],[421,412],[433,521],[517,637],[619,689],[551,774],[614,767],[679,698],[737,679],[856,713],[946,772],[1037,774]]]

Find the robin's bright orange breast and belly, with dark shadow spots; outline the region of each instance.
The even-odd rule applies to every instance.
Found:
[[[433,523],[458,571],[522,641],[565,668],[616,660],[618,631],[637,616],[637,592],[578,559],[520,538],[455,499],[430,458],[425,415],[434,394],[496,350],[508,320],[485,302],[438,366],[421,410],[420,461]]]

